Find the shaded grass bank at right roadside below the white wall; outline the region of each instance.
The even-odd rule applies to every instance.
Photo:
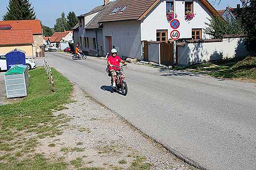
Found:
[[[188,66],[183,69],[192,69],[216,78],[256,81],[256,57],[222,59]]]

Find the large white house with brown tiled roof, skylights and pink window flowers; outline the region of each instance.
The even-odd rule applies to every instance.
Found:
[[[104,50],[117,48],[122,57],[143,59],[142,41],[168,41],[172,28],[167,22],[167,11],[174,10],[172,0],[117,0],[102,10]],[[195,17],[185,20],[191,11]],[[181,39],[209,39],[203,28],[207,18],[220,16],[207,0],[176,1],[177,19],[180,20]],[[220,16],[221,17],[221,16]]]

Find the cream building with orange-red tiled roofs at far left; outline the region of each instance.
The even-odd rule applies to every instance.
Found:
[[[0,54],[15,48],[26,52],[27,56],[36,56],[42,52],[43,30],[40,20],[0,21]]]

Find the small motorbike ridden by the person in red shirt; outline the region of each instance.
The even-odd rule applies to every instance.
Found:
[[[128,86],[127,83],[125,82],[125,74],[123,73],[123,66],[126,65],[121,65],[120,67],[117,67],[117,79],[115,80],[115,86],[114,90],[117,92],[121,92],[123,96],[127,95],[128,92]],[[111,84],[113,84],[113,80],[111,79]]]

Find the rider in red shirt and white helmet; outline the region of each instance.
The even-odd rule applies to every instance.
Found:
[[[119,56],[117,56],[117,50],[113,48],[111,50],[111,55],[108,58],[109,71],[113,80],[113,87],[115,87],[115,79],[117,78],[117,67],[120,67],[119,62],[125,63],[125,61],[123,61]]]

